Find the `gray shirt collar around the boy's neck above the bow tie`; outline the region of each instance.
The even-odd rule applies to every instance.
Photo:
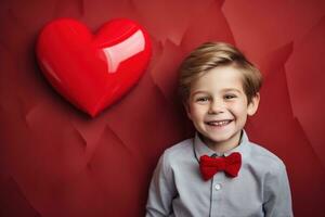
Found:
[[[203,155],[208,155],[211,156],[212,154],[217,154],[218,156],[227,156],[233,152],[239,152],[242,157],[245,157],[248,155],[249,152],[249,140],[248,137],[246,135],[246,131],[243,130],[242,133],[242,138],[240,138],[240,142],[239,145],[235,146],[234,149],[225,152],[225,153],[217,153],[213,150],[211,150],[210,148],[208,148],[203,141],[202,139],[198,137],[198,133],[195,133],[195,138],[194,138],[194,151],[196,154],[196,157],[199,159],[200,156]]]

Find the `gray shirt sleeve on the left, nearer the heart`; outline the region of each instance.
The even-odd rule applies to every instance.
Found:
[[[172,213],[171,202],[176,196],[173,175],[166,152],[159,158],[151,181],[146,217],[169,216]]]

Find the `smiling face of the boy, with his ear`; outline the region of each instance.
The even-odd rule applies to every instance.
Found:
[[[259,94],[248,104],[240,72],[222,66],[193,82],[185,108],[204,142],[227,151],[238,144],[247,115],[256,113],[258,103]]]

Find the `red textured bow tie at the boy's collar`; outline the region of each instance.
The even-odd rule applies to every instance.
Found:
[[[199,158],[199,170],[204,180],[209,180],[218,171],[225,171],[230,177],[236,177],[242,166],[242,155],[234,152],[226,157],[204,155]]]

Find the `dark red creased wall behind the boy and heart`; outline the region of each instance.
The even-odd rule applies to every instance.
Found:
[[[90,118],[60,97],[35,58],[41,27],[115,17],[153,41],[129,94]],[[325,1],[1,0],[0,216],[143,216],[161,152],[192,135],[177,67],[207,40],[235,43],[264,75],[247,131],[287,165],[295,216],[325,216]]]

